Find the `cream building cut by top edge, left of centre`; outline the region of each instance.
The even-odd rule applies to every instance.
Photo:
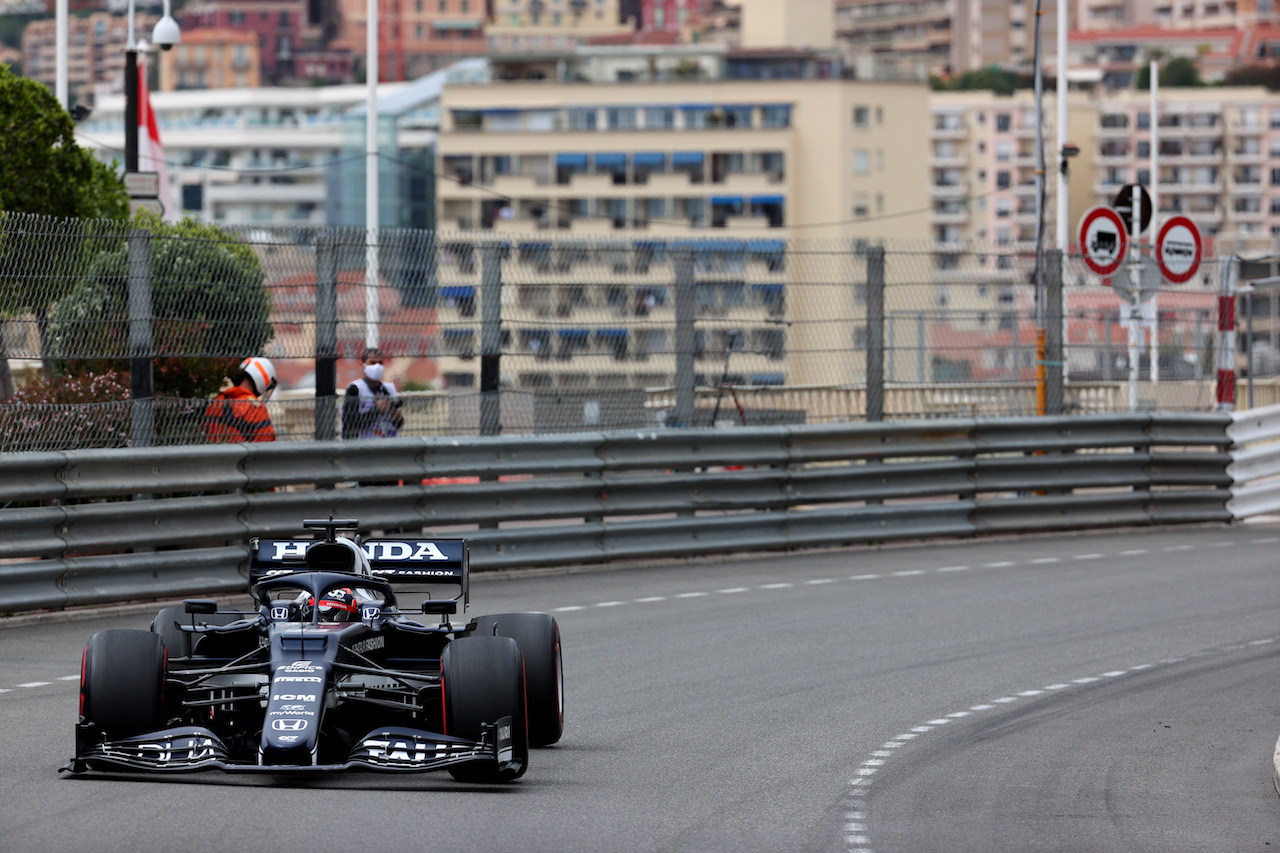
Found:
[[[494,51],[564,50],[632,33],[636,23],[620,0],[495,0],[485,37]]]

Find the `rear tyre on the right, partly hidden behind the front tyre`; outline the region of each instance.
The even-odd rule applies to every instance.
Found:
[[[564,663],[559,625],[547,613],[479,616],[472,637],[509,637],[525,653],[529,697],[529,745],[549,747],[564,734]]]

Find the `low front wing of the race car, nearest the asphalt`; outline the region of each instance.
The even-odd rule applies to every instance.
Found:
[[[494,761],[499,770],[506,770],[512,760],[511,717],[483,725],[480,740],[463,740],[419,729],[375,729],[360,739],[347,756],[347,761],[334,765],[261,765],[233,761],[218,735],[200,726],[182,726],[123,740],[88,743],[77,752],[79,754],[59,767],[59,772],[79,774],[86,770],[160,772],[221,770],[236,774],[426,772],[474,761]]]

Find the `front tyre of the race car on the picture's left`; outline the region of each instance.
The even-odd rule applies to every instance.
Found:
[[[99,631],[84,647],[81,716],[106,740],[164,725],[165,648],[151,631]]]

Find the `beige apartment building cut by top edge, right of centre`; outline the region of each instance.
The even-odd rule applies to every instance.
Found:
[[[1043,4],[1046,64],[1056,61],[1055,4]],[[1032,0],[836,0],[836,32],[855,65],[902,77],[1030,65],[1036,55]]]

